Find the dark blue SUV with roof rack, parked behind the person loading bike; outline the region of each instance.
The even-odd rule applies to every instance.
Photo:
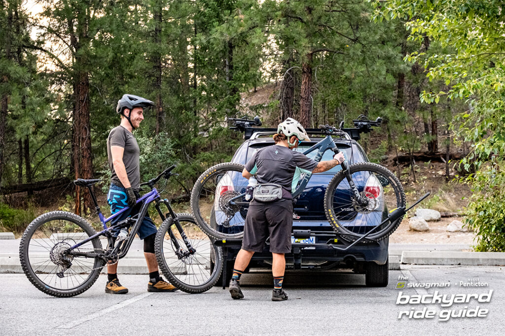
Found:
[[[233,127],[232,127],[233,129]],[[276,132],[272,128],[239,128],[244,131],[245,141],[235,152],[232,162],[245,164],[257,150],[274,144],[272,136]],[[321,138],[320,129],[306,129],[311,141],[304,141],[296,149],[305,151],[318,143]],[[356,129],[349,129],[356,130]],[[338,149],[344,152],[350,164],[368,162],[363,148],[356,141],[360,138],[359,131],[349,132],[352,139],[335,140]],[[315,152],[313,152],[315,154]],[[310,157],[310,155],[308,155]],[[324,153],[322,161],[330,160],[333,152]],[[388,242],[386,238],[379,242],[357,244],[346,251],[334,249],[332,246],[345,246],[336,236],[324,213],[324,194],[331,178],[341,169],[333,169],[314,174],[305,190],[294,204],[294,212],[299,219],[293,220],[292,250],[286,254],[286,268],[295,270],[335,270],[337,268],[352,268],[356,273],[365,274],[367,286],[387,286],[388,283]],[[245,214],[244,214],[245,215]],[[308,236],[306,233],[318,233]],[[317,245],[315,245],[317,243]],[[321,244],[323,243],[323,244]],[[233,259],[239,250],[238,246],[224,246],[225,282],[231,278]],[[272,254],[268,246],[262,253],[255,253],[248,268],[271,268]],[[247,271],[247,270],[246,270]]]

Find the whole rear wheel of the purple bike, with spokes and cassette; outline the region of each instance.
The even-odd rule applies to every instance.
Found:
[[[72,213],[54,211],[37,217],[26,228],[19,245],[19,259],[26,277],[40,291],[52,296],[71,297],[85,292],[98,278],[104,261],[72,256],[66,251],[94,234],[86,220]],[[98,238],[74,250],[103,252]]]

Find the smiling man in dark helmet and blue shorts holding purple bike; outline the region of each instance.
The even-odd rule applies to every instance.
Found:
[[[132,131],[144,119],[144,107],[153,106],[150,100],[134,95],[123,95],[118,101],[116,112],[121,115],[121,124],[111,130],[107,139],[107,155],[112,171],[111,186],[108,193],[108,203],[111,214],[128,207],[123,213],[111,221],[111,226],[139,213],[140,207],[136,200],[140,197],[140,149]],[[144,257],[149,270],[148,292],[174,292],[177,289],[165,282],[158,271],[158,261],[155,255],[155,237],[158,229],[146,214],[138,229],[138,236],[144,240]],[[111,230],[117,237],[119,229]],[[126,294],[128,289],[121,286],[117,275],[118,264],[107,266],[108,282],[105,292],[110,294]]]

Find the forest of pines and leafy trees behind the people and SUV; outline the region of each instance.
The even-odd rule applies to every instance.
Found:
[[[107,190],[106,140],[119,124],[117,100],[131,93],[156,104],[135,131],[142,179],[179,165],[170,198],[184,202],[201,172],[231,159],[242,134],[226,117],[260,115],[268,126],[294,117],[317,127],[381,116],[376,135],[361,141],[370,159],[394,170],[408,193],[425,189],[419,166],[443,164],[442,184],[469,186],[461,210],[479,237],[476,249],[505,250],[501,1],[0,0],[0,7],[6,230],[22,231],[42,206],[89,214],[89,195],[70,182],[101,177]],[[432,199],[443,201],[443,185],[435,189]]]

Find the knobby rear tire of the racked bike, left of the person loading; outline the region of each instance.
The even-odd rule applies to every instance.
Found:
[[[243,231],[238,232],[238,233],[223,233],[219,232],[218,230],[214,229],[210,223],[207,223],[205,218],[200,212],[200,205],[199,205],[199,195],[200,192],[203,191],[205,188],[205,183],[209,179],[212,179],[213,177],[216,177],[219,174],[223,174],[227,171],[236,171],[236,172],[242,172],[244,169],[244,165],[239,164],[239,163],[220,163],[218,165],[215,165],[209,169],[207,169],[203,174],[198,177],[198,180],[196,181],[195,185],[193,186],[193,189],[191,190],[191,211],[194,214],[194,217],[196,219],[196,224],[204,230],[208,235],[210,235],[213,238],[216,239],[241,239],[243,237]]]

